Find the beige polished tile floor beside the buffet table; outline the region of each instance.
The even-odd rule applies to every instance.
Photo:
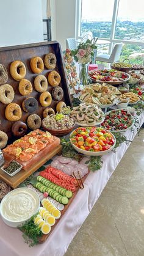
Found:
[[[118,164],[65,256],[144,256],[144,129]]]

